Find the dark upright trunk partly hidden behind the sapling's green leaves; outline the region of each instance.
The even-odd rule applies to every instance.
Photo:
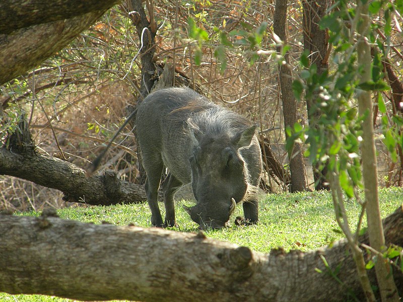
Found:
[[[327,3],[327,0],[304,0],[302,2],[304,12],[304,50],[308,54],[310,64],[316,65],[318,75],[328,69],[328,36],[325,30],[320,30],[319,28],[319,21],[327,10]],[[317,94],[314,94],[311,98],[305,98],[310,127],[316,127],[316,121],[320,118],[321,114],[317,107],[316,98]],[[312,168],[315,189],[329,190],[330,188],[325,178],[327,174],[327,164],[325,164],[323,168],[320,168],[319,164],[315,164]]]

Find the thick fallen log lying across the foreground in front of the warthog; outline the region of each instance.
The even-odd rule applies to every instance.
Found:
[[[387,243],[402,246],[401,207],[384,227]],[[363,298],[345,241],[308,253],[262,254],[203,233],[94,225],[49,214],[0,215],[0,229],[0,291],[11,294],[138,301],[343,301],[350,293]],[[366,236],[360,239],[368,243]],[[372,271],[370,277],[375,282]],[[401,271],[394,277],[403,288]]]

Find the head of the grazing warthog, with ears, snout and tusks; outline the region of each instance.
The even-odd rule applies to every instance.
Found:
[[[193,142],[191,184],[197,203],[184,208],[200,229],[220,229],[247,191],[249,173],[239,149],[249,146],[255,126],[228,134],[222,129],[200,131],[188,123]]]

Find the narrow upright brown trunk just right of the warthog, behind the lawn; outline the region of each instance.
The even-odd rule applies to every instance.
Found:
[[[273,28],[276,35],[287,44],[286,36],[287,0],[277,0]],[[281,52],[282,47],[278,47]],[[292,71],[288,52],[284,54],[285,64],[279,65],[281,99],[283,102],[284,126],[294,128],[297,122],[297,105],[292,92]],[[302,156],[302,146],[295,142],[292,152],[289,152],[291,172],[291,192],[306,189],[305,167]]]

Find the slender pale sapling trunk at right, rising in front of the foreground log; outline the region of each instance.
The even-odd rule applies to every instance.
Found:
[[[357,15],[360,16],[357,27],[359,37],[357,41],[357,63],[362,68],[361,83],[372,80],[371,47],[368,43],[371,28],[368,6],[368,3],[357,2]],[[377,160],[374,128],[370,114],[372,112],[371,91],[360,91],[358,93],[358,111],[360,115],[367,114],[362,123],[363,140],[361,143],[361,154],[369,240],[374,250],[383,253],[385,252],[385,238],[379,211]],[[399,297],[393,277],[390,276],[391,266],[388,261],[384,261],[382,256],[378,255],[375,269],[382,301],[398,301]]]

